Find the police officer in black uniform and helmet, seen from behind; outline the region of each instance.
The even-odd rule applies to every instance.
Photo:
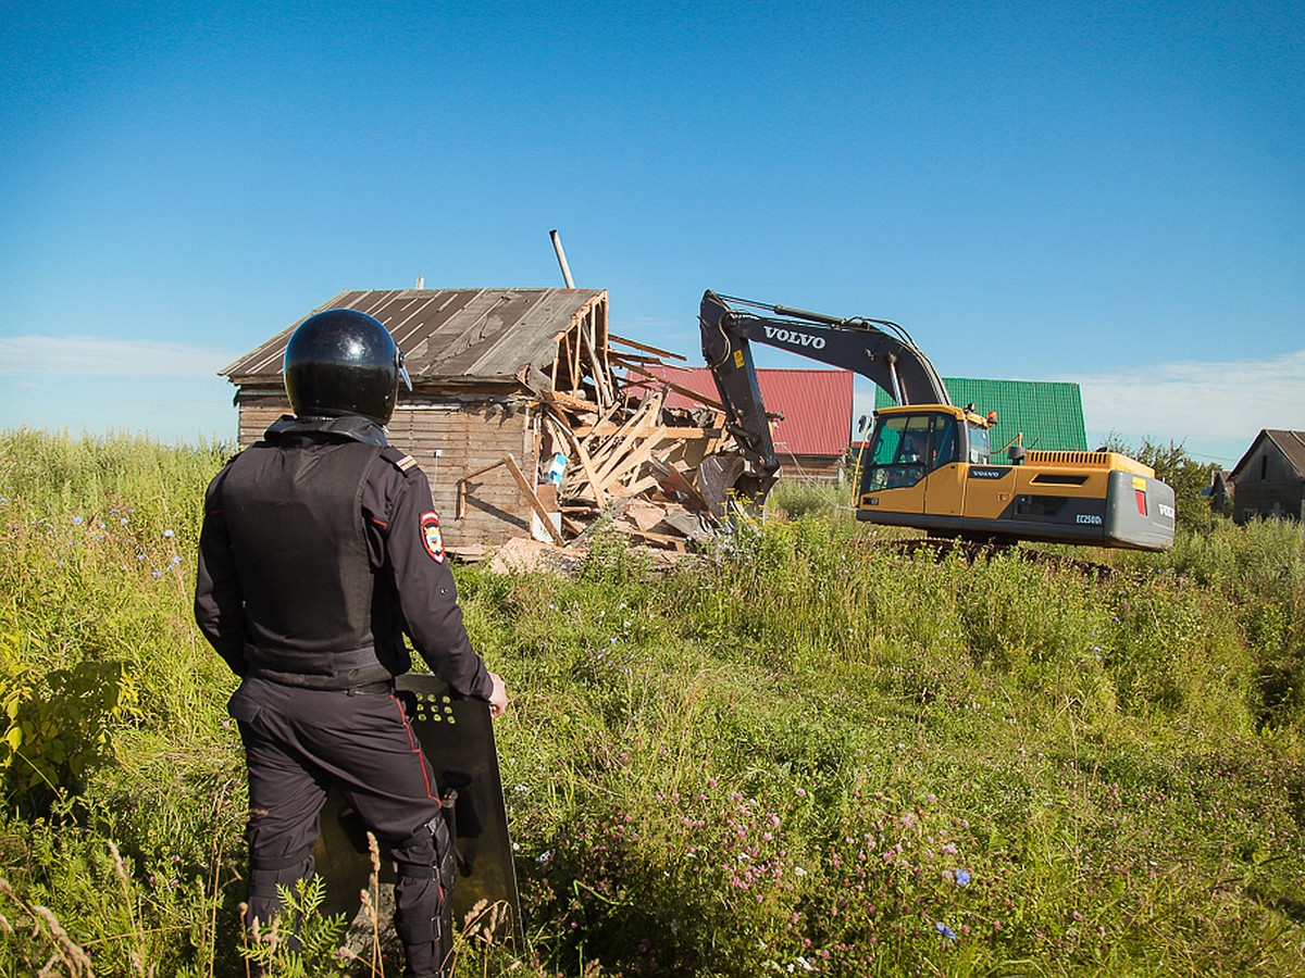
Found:
[[[403,635],[492,716],[508,696],[463,627],[425,475],[386,445],[399,379],[398,347],[371,316],[331,309],[295,330],[284,357],[294,416],[209,485],[194,613],[241,677],[227,709],[249,776],[247,925],[277,915],[278,884],[312,874],[334,785],[390,848],[405,974],[424,978],[442,974],[448,949],[452,842],[393,695],[411,666]]]

